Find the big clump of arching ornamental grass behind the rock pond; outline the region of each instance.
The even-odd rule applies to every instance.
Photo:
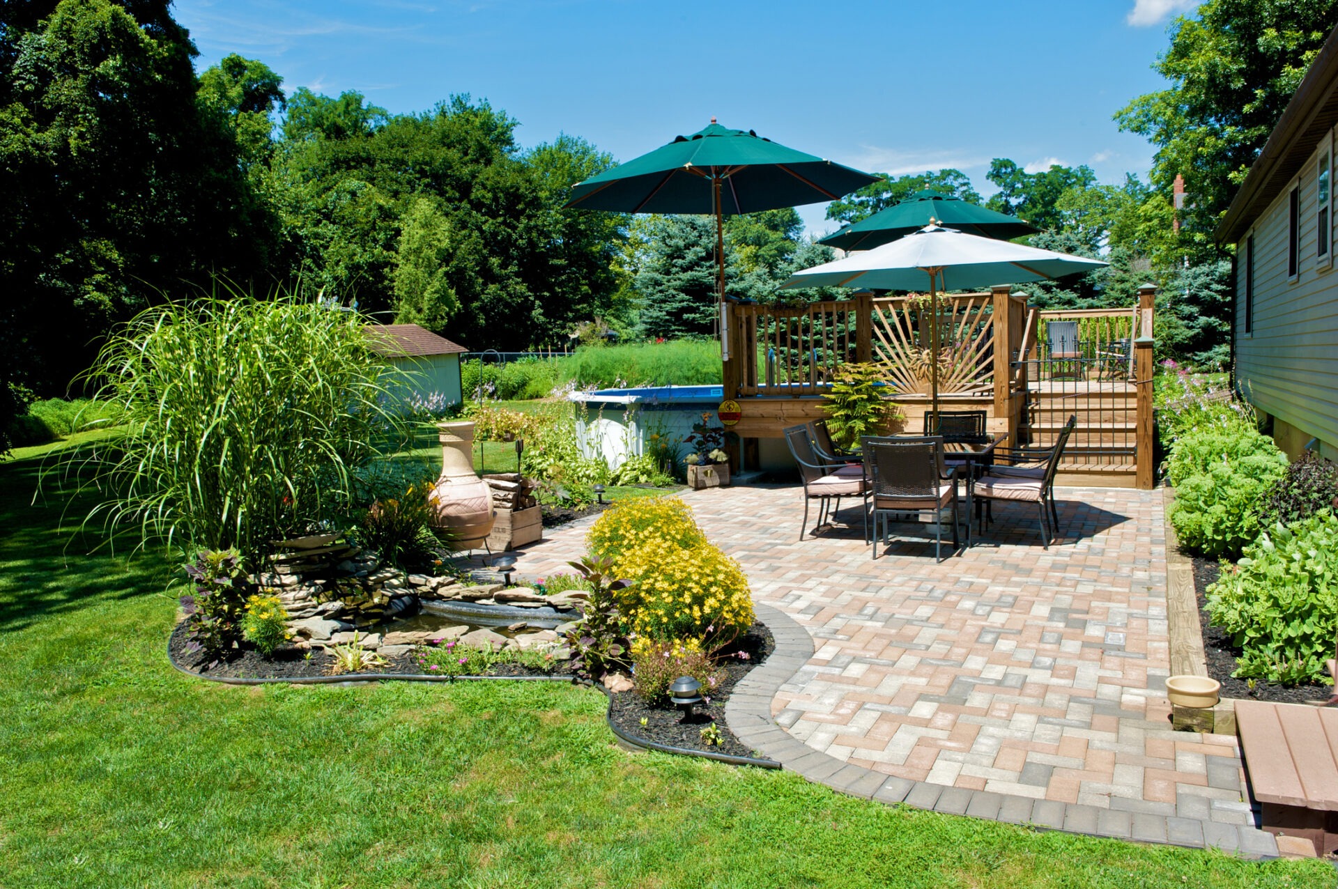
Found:
[[[94,457],[106,499],[90,517],[256,564],[272,539],[339,515],[397,424],[363,325],[294,298],[139,314],[91,372],[126,433]]]

